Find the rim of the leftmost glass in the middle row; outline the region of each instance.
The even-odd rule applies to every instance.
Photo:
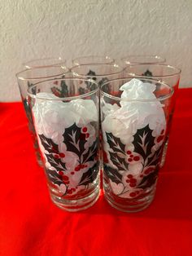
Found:
[[[41,70],[41,69],[45,69],[45,68],[60,68],[61,70],[63,69],[64,73],[55,73],[54,75],[48,75],[48,76],[42,76],[42,77],[23,77],[23,76],[20,76],[22,73],[27,73],[29,71],[34,71],[34,70]],[[41,67],[37,67],[37,68],[26,68],[24,70],[21,70],[20,72],[16,73],[15,74],[15,77],[17,77],[18,80],[21,80],[21,81],[36,81],[36,80],[39,80],[39,79],[46,79],[46,78],[51,78],[51,77],[55,77],[55,76],[62,76],[62,75],[65,75],[69,72],[69,69],[65,66],[53,66],[53,65],[50,65],[50,66],[41,66]]]

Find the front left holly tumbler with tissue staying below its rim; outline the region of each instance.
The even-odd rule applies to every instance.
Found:
[[[28,89],[50,197],[63,210],[84,210],[99,196],[98,102],[91,79],[54,79]]]

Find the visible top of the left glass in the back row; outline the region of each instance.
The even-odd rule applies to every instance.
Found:
[[[25,62],[24,68],[41,68],[41,67],[66,67],[66,60],[63,60],[61,57],[58,58],[44,58],[44,59],[35,59]]]

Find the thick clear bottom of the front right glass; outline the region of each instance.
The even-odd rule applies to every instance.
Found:
[[[116,210],[134,213],[146,209],[154,199],[155,187],[150,191],[145,192],[142,196],[134,199],[121,198],[111,192],[107,192],[107,188],[104,188],[104,196],[107,202]]]

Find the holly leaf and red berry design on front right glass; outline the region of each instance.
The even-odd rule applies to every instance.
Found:
[[[109,150],[103,154],[104,171],[109,181],[118,185],[116,195],[133,198],[155,184],[164,149],[164,130],[157,137],[152,132],[149,125],[138,129],[133,135],[133,150],[112,133],[105,133]],[[133,170],[136,164],[137,169]]]

